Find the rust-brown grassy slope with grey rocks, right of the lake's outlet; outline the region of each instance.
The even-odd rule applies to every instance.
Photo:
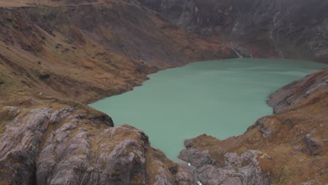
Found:
[[[275,114],[224,141],[186,139],[179,158],[196,168],[202,184],[327,183],[327,79],[328,68],[285,85],[268,102]]]

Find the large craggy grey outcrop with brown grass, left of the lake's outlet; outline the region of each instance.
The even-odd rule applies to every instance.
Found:
[[[128,125],[111,127],[104,114],[88,116],[77,109],[31,109],[15,116],[0,135],[0,178],[9,184],[188,184],[181,167],[169,170],[154,159],[155,176],[146,174],[148,137]],[[158,161],[157,161],[158,160]],[[175,179],[175,175],[179,174]]]

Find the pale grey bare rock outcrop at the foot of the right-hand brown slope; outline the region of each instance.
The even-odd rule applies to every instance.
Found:
[[[226,153],[224,155],[224,166],[214,163],[208,151],[197,151],[196,149],[185,149],[179,158],[194,166],[189,171],[188,177],[199,181],[201,184],[270,184],[269,179],[263,176],[259,167],[258,158],[267,157],[260,151],[246,151],[240,156],[237,153]]]

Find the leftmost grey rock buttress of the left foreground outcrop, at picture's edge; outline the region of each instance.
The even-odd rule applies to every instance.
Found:
[[[15,172],[14,184],[34,182],[34,161],[49,118],[49,109],[32,109],[6,125],[6,132],[0,138],[0,170]],[[8,160],[11,163],[6,163]]]

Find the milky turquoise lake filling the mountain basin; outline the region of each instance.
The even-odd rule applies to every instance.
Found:
[[[283,85],[325,64],[296,60],[231,59],[196,62],[149,75],[134,90],[91,107],[144,130],[151,146],[177,160],[186,138],[241,135],[272,114],[266,100]]]

